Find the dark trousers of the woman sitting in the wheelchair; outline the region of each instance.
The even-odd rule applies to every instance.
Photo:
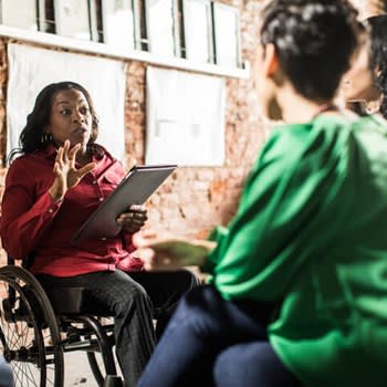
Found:
[[[187,270],[177,272],[96,272],[72,278],[36,275],[46,292],[54,286],[87,289],[91,302],[97,301],[114,316],[116,354],[125,386],[136,385],[180,296],[198,284]]]

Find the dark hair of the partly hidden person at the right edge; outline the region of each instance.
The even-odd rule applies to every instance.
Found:
[[[368,18],[370,29],[369,69],[381,95],[380,114],[387,119],[387,14]]]

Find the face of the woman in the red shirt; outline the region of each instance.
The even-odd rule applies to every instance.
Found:
[[[52,101],[50,124],[45,128],[60,144],[81,144],[85,148],[92,134],[92,114],[84,94],[70,88],[57,92]]]

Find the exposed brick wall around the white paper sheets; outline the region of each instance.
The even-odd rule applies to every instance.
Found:
[[[252,63],[257,44],[258,14],[262,1],[234,0],[224,3],[240,9],[242,57]],[[9,39],[0,39],[0,159],[2,160],[6,157],[9,42]],[[146,66],[146,63],[128,62],[125,97],[126,167],[129,167],[133,158],[138,163],[144,161]],[[215,224],[226,224],[233,216],[242,181],[266,133],[252,84],[252,76],[248,80],[227,79],[224,166],[179,168],[149,201],[149,227],[205,238]],[[6,172],[1,165],[0,195]]]

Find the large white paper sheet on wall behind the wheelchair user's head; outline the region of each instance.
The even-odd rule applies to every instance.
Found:
[[[38,93],[49,83],[74,81],[92,96],[100,117],[97,143],[124,159],[125,65],[123,62],[8,44],[7,154],[19,136]]]

